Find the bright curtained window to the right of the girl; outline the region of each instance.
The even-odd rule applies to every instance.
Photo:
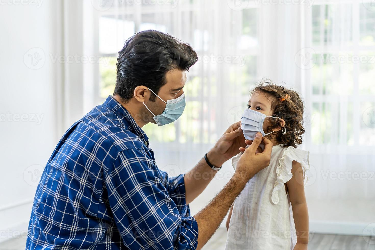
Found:
[[[331,2],[309,10],[311,29],[306,28],[312,52],[305,79],[311,93],[309,139],[312,145],[363,150],[375,145],[375,7],[366,1]]]

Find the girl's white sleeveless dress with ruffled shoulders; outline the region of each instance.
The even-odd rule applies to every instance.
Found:
[[[232,159],[234,169],[241,154]],[[309,152],[273,146],[270,165],[249,180],[234,203],[225,249],[293,250],[296,229],[285,192],[285,183],[293,177],[293,161],[301,163],[306,183]]]

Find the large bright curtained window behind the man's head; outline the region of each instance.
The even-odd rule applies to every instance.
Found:
[[[210,20],[206,20],[208,12]],[[223,15],[231,21],[222,19]],[[249,82],[258,77],[256,8],[238,12],[208,1],[180,1],[176,7],[129,6],[126,1],[114,1],[110,9],[97,12],[96,19],[98,53],[106,62],[99,65],[98,103],[113,93],[117,52],[133,33],[163,31],[188,42],[199,55],[198,63],[187,73],[187,105],[181,118],[166,126],[147,124],[142,128],[154,145],[175,150],[177,143],[212,144],[240,119],[248,101]],[[238,100],[243,100],[243,106]]]

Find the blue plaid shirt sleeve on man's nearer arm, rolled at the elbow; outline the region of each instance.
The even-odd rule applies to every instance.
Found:
[[[168,179],[160,172],[145,152],[132,149],[105,171],[118,232],[129,249],[196,249],[198,224],[189,216],[183,175]]]

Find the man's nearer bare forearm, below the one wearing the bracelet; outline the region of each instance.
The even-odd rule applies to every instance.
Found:
[[[201,249],[211,238],[223,221],[234,200],[245,187],[247,181],[248,178],[237,174],[237,172],[234,173],[231,180],[228,181],[216,197],[194,216],[198,223],[199,231],[197,249]]]

